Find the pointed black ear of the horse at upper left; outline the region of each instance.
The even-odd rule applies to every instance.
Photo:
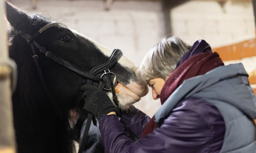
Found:
[[[6,17],[16,30],[25,30],[30,25],[30,17],[11,2],[6,1]]]

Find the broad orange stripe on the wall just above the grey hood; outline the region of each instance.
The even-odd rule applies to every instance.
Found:
[[[256,56],[256,40],[246,40],[237,44],[212,49],[217,52],[222,61],[240,60],[245,57]]]

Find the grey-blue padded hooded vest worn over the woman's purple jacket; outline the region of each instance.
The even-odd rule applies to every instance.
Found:
[[[184,98],[196,97],[214,104],[222,114],[226,131],[220,152],[256,153],[256,98],[243,64],[219,66],[184,82],[155,114],[155,121],[167,116]]]

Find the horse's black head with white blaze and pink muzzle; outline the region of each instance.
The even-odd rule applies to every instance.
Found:
[[[29,44],[18,35],[18,32],[24,32],[32,36],[43,26],[54,22],[40,15],[22,12],[9,4],[7,4],[7,19],[11,26],[14,27],[14,31],[12,31],[11,34],[11,56],[19,58],[17,59],[18,61],[26,60],[24,61],[26,64],[33,63],[33,59],[31,58],[32,51],[29,49]],[[48,28],[35,38],[35,40],[55,56],[60,57],[85,73],[89,73],[93,67],[106,62],[112,51],[65,26]],[[15,49],[12,49],[15,47],[14,41],[22,43],[22,45],[18,45],[19,49],[17,50],[19,50],[19,52],[14,52],[13,50]],[[25,50],[25,53],[22,50]],[[80,98],[80,96],[78,96],[80,95],[78,94],[79,87],[84,84],[85,80],[88,78],[81,77],[79,74],[55,63],[40,51],[37,51],[37,56],[47,90],[51,94],[53,101],[62,101],[62,103],[68,102],[69,104],[71,101],[77,103],[78,100],[74,99],[77,99],[76,97]],[[26,69],[24,68],[24,66],[27,66],[26,64],[21,67]],[[27,69],[30,69],[32,72],[36,70],[35,67]],[[134,63],[124,56],[110,69],[111,72],[117,75],[118,84],[115,87],[115,91],[121,108],[127,108],[131,104],[138,102],[140,97],[143,97],[148,92],[148,88],[145,85],[141,85],[137,82],[136,69],[137,67]],[[24,71],[22,71],[22,73],[24,73]],[[21,74],[21,72],[19,74]],[[37,73],[33,74],[36,75]],[[97,76],[100,77],[101,75],[102,73]],[[32,78],[26,79],[31,80]],[[106,80],[106,82],[108,82],[108,80]],[[38,86],[40,86],[40,84],[38,84]]]

